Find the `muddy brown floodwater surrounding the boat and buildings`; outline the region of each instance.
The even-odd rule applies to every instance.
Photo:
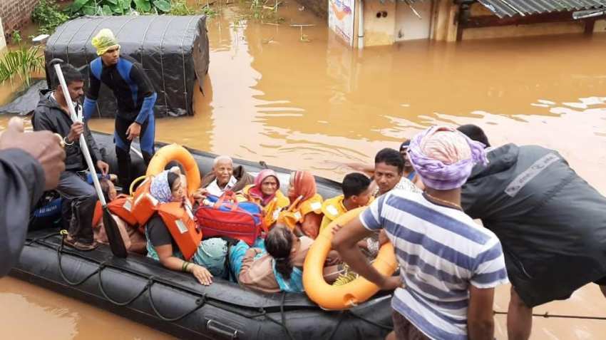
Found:
[[[412,41],[359,52],[292,1],[279,9],[278,26],[247,21],[238,6],[221,12],[207,23],[210,72],[204,94],[195,94],[195,116],[157,120],[157,140],[341,180],[343,163],[371,163],[377,150],[397,148],[428,125],[475,123],[493,145],[558,150],[606,194],[606,34]],[[301,32],[291,24],[315,26]],[[111,132],[113,121],[91,128]],[[498,289],[496,310],[506,311],[508,289]],[[3,339],[165,337],[16,279],[0,280],[0,302]],[[606,299],[589,285],[535,309],[546,312],[606,316]],[[505,339],[505,316],[495,320],[497,339]],[[535,317],[531,339],[605,334],[606,321]]]

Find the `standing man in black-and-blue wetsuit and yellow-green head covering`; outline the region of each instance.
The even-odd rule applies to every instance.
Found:
[[[101,83],[113,91],[118,104],[113,133],[118,177],[128,187],[130,177],[130,143],[139,137],[141,153],[148,165],[154,153],[155,122],[153,106],[156,93],[143,66],[129,56],[120,56],[120,45],[112,31],[102,29],[92,40],[99,56],[91,61],[88,92],[84,100],[84,119],[95,112]]]

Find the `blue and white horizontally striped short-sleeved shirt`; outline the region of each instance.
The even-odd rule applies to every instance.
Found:
[[[369,230],[386,230],[406,285],[396,289],[391,305],[431,339],[467,339],[470,284],[508,283],[498,238],[460,210],[393,190],[360,220]]]

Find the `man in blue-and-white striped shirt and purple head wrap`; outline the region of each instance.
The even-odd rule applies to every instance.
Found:
[[[461,210],[461,186],[483,145],[451,128],[416,135],[409,150],[423,193],[393,190],[337,232],[334,249],[381,289],[396,289],[391,339],[493,339],[494,288],[508,282],[500,243]],[[399,277],[379,274],[356,242],[384,229]],[[404,287],[400,287],[404,284]]]

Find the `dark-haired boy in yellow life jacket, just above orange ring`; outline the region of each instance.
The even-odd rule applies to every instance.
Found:
[[[346,175],[341,184],[343,195],[325,200],[322,204],[322,224],[320,232],[337,217],[356,207],[364,207],[371,202],[370,179],[359,172]]]

